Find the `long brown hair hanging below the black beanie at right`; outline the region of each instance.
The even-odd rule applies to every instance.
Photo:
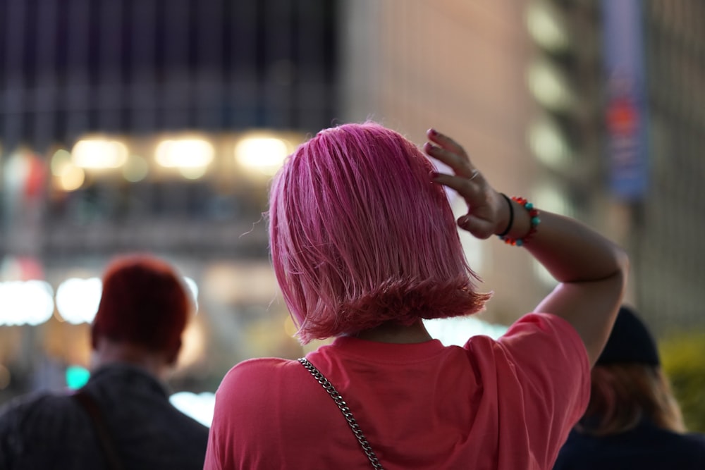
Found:
[[[661,367],[596,365],[592,369],[590,402],[577,430],[591,435],[623,433],[642,418],[669,431],[685,432],[680,407]]]

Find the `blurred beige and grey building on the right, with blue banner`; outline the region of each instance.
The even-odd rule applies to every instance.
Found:
[[[705,325],[705,249],[696,240],[705,223],[705,159],[697,153],[705,136],[697,92],[705,78],[701,2],[343,3],[345,37],[364,44],[348,48],[343,61],[348,117],[384,118],[416,142],[431,125],[446,130],[497,187],[627,247],[627,302],[659,335]],[[611,21],[636,38],[613,35]],[[627,61],[643,67],[643,95],[633,108],[611,92],[615,51],[633,52]],[[638,125],[644,135],[634,145],[642,147],[631,157],[644,174],[620,181],[612,134]],[[521,254],[466,241],[483,286],[497,292],[487,318],[512,321],[551,289],[546,273]]]

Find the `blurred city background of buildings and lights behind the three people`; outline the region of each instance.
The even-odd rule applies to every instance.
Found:
[[[163,256],[197,297],[170,385],[204,422],[233,364],[304,354],[269,180],[321,128],[372,119],[448,133],[498,189],[627,247],[627,301],[705,431],[704,23],[701,0],[0,0],[0,405],[85,381],[116,254]],[[429,326],[447,343],[554,286],[461,237],[496,295]]]

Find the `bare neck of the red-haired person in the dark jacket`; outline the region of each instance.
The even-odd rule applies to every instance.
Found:
[[[131,342],[113,341],[100,338],[93,351],[93,370],[109,364],[131,364],[138,366],[159,379],[166,378],[171,364],[164,352],[151,351]]]

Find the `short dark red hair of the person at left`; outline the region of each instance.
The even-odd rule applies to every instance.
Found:
[[[193,309],[188,287],[176,271],[153,256],[120,256],[106,268],[92,325],[92,343],[103,336],[155,352],[181,346]]]

